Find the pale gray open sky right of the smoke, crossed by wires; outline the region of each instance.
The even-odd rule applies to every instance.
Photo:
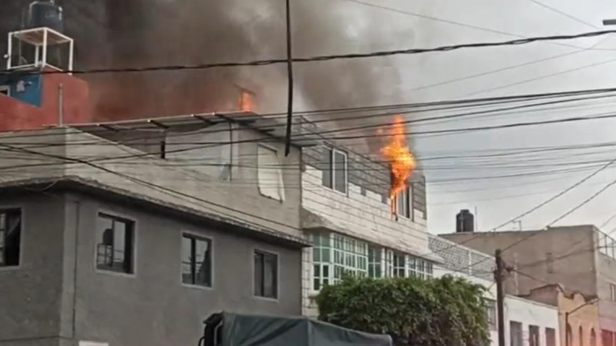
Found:
[[[368,2],[369,0],[362,1]],[[351,3],[357,7],[367,7]],[[467,0],[463,2],[450,0],[373,0],[371,3],[487,29],[469,28],[463,25],[419,18],[410,14],[367,7],[370,8],[371,13],[378,15],[379,20],[383,19],[381,16],[385,16],[399,30],[408,29],[409,36],[412,37],[412,41],[406,44],[403,41],[383,42],[383,47],[381,47],[383,49],[399,49],[409,46],[435,47],[460,42],[502,41],[517,36],[582,33],[601,28],[603,18],[610,17],[610,15],[616,17],[616,2],[604,0],[584,1],[583,4],[580,1],[572,0],[541,0],[542,4],[572,15],[578,20],[540,6],[532,0]],[[581,22],[588,22],[596,27]],[[501,33],[494,31],[501,31]],[[509,33],[509,35],[506,33]],[[491,97],[614,86],[615,83],[610,76],[614,75],[616,69],[616,50],[612,50],[616,49],[615,37],[579,39],[562,41],[562,43],[578,47],[542,42],[527,46],[400,56],[395,58],[395,62],[397,66],[400,66],[402,72],[399,85],[402,92],[400,92],[399,97],[405,99],[406,102],[423,102],[426,100]],[[588,47],[593,48],[583,49]],[[540,59],[547,60],[529,63]],[[522,63],[529,64],[476,78],[464,79],[463,81],[425,87]],[[554,75],[552,76],[552,74]],[[509,86],[510,84],[515,85]],[[442,124],[414,126],[411,131],[567,118],[593,115],[613,109],[614,100],[606,99],[580,103],[577,107],[559,110],[516,112],[498,117],[457,119]],[[421,158],[441,154],[477,155],[478,151],[498,148],[609,142],[614,139],[615,127],[614,120],[607,119],[518,129],[467,132],[457,135],[418,137],[415,138],[414,150]],[[600,152],[596,153],[597,151]],[[575,168],[580,166],[572,166],[571,163],[589,160],[601,161],[612,159],[613,156],[616,157],[616,151],[610,148],[594,148],[490,159],[488,164],[505,165],[505,167],[498,168],[479,167],[477,166],[477,159],[463,158],[439,161],[438,164],[426,161],[423,164],[426,166],[428,180],[435,181],[452,180],[460,177],[482,177]],[[435,165],[441,166],[442,169],[437,171],[434,169]],[[514,167],[512,165],[531,165],[532,167]],[[507,179],[447,184],[431,183],[428,187],[429,231],[432,233],[454,231],[456,212],[463,208],[472,210],[474,207],[477,207],[479,211],[479,229],[489,230],[564,190],[596,168],[595,166],[592,169],[565,174],[537,174]],[[606,169],[574,191],[524,217],[522,219],[523,227],[541,228],[552,222],[583,199],[598,191],[611,179],[614,179],[614,172],[616,172],[616,169]],[[606,193],[557,224],[594,223],[601,225],[610,215],[616,213],[615,198],[616,187],[607,190]],[[501,228],[501,230],[516,228],[517,225],[511,224]],[[616,228],[616,220],[610,222],[603,230],[611,231],[614,228]]]

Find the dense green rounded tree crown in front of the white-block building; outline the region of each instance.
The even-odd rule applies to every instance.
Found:
[[[319,319],[359,331],[389,334],[397,346],[488,344],[483,286],[444,276],[359,279],[325,286]]]

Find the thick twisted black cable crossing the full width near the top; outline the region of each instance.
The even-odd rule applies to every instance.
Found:
[[[354,58],[371,58],[371,57],[389,57],[392,55],[400,54],[424,54],[431,52],[449,52],[456,49],[466,48],[482,48],[482,47],[501,47],[501,46],[520,46],[522,44],[529,44],[532,42],[541,41],[559,41],[579,38],[591,38],[597,36],[603,36],[606,34],[616,33],[616,30],[602,30],[591,31],[581,34],[572,35],[553,35],[553,36],[536,36],[530,38],[519,38],[509,41],[501,42],[477,42],[469,44],[454,44],[449,46],[440,46],[436,48],[410,48],[410,49],[397,49],[397,50],[381,50],[370,53],[355,53],[355,54],[338,54],[338,55],[319,55],[315,57],[306,58],[293,58],[292,62],[323,62],[339,59],[354,59]],[[134,72],[148,72],[148,71],[175,71],[175,70],[206,70],[209,68],[220,67],[239,67],[239,66],[265,66],[274,65],[278,63],[288,63],[288,59],[270,59],[270,60],[254,60],[251,62],[224,62],[224,63],[201,63],[197,65],[168,65],[168,66],[149,66],[141,68],[101,68],[92,70],[72,70],[72,71],[1,71],[0,75],[13,75],[13,74],[96,74],[96,73],[134,73]]]

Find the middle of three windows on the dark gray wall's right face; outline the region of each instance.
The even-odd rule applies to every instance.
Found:
[[[212,241],[182,235],[182,283],[212,286]]]

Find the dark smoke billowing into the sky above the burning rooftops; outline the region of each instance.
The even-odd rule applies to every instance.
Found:
[[[286,57],[284,0],[64,0],[61,4],[67,33],[76,39],[77,68]],[[412,31],[397,30],[387,25],[387,17],[378,17],[378,10],[353,2],[291,0],[291,11],[295,57],[411,46]],[[387,58],[294,65],[296,109],[380,105],[398,99],[397,68]],[[234,110],[238,86],[256,94],[257,111],[286,107],[284,64],[83,78],[90,82],[96,119]]]

